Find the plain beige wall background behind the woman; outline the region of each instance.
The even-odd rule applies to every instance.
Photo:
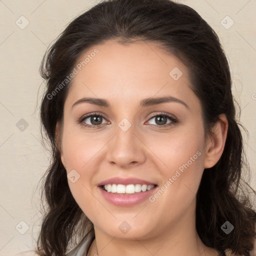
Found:
[[[38,105],[44,83],[38,67],[49,43],[96,2],[0,1],[0,255],[34,255],[20,252],[33,248],[37,237],[41,216],[36,187],[49,157],[40,144]],[[206,19],[228,55],[240,121],[249,133],[244,145],[252,172],[250,185],[256,190],[256,1],[179,2]],[[25,22],[29,23],[22,27]],[[21,118],[28,124],[23,130]]]

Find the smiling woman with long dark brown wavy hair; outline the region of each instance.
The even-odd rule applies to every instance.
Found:
[[[101,2],[66,27],[41,75],[52,164],[36,253],[253,255],[229,67],[197,12]]]

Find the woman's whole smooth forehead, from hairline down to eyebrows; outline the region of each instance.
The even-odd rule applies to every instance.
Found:
[[[128,102],[131,98],[139,100],[170,92],[176,97],[189,96],[186,66],[158,46],[149,41],[129,44],[107,41],[93,45],[77,59],[77,74],[68,92],[70,100],[89,95],[107,97],[110,101],[119,97]]]

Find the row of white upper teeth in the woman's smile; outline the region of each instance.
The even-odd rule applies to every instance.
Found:
[[[140,184],[128,184],[128,185],[123,185],[123,184],[106,184],[104,185],[104,188],[107,192],[111,193],[127,193],[127,194],[133,194],[133,193],[138,193],[138,192],[144,192],[147,190],[150,190],[154,187],[154,185],[140,185]]]

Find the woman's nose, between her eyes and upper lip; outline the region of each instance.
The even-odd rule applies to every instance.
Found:
[[[116,127],[116,133],[107,143],[106,160],[118,168],[130,168],[142,164],[146,157],[146,145],[142,142],[139,132],[136,132],[134,125],[125,130],[122,123]],[[124,126],[127,125],[124,122]]]

